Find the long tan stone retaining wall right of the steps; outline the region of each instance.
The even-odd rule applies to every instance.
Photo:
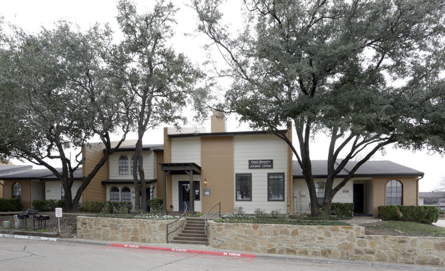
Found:
[[[360,226],[209,223],[209,246],[236,251],[445,266],[445,238],[365,236]]]

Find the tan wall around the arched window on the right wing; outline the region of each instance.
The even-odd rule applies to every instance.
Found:
[[[418,205],[417,177],[375,177],[372,214],[379,214],[379,206],[386,205],[386,184],[398,180],[403,185],[403,205]]]

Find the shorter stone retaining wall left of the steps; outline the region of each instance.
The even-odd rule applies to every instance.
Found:
[[[173,225],[168,226],[168,229],[176,229],[184,219],[185,218],[179,219]],[[174,220],[170,219],[153,220],[77,216],[77,238],[165,244],[166,225],[173,221]],[[184,225],[182,227],[184,227]],[[180,232],[181,230],[175,231],[168,239],[173,240]]]

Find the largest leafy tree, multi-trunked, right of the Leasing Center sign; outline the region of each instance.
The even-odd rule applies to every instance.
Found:
[[[324,212],[383,147],[444,151],[443,1],[245,0],[239,33],[224,25],[222,4],[194,1],[198,30],[226,61],[218,76],[232,79],[226,110],[288,143],[303,169],[312,214],[309,141],[318,132],[330,137]],[[294,129],[295,143],[277,133],[283,126]]]

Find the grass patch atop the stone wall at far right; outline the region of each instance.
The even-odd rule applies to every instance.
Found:
[[[372,226],[388,233],[405,233],[407,236],[445,237],[445,228],[435,225],[413,223],[407,221],[387,221],[381,225]]]

